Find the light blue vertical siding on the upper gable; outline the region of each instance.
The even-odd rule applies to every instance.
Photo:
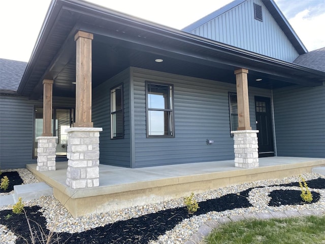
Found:
[[[254,3],[262,6],[263,22],[254,18]],[[299,56],[260,0],[248,0],[190,33],[286,62]]]

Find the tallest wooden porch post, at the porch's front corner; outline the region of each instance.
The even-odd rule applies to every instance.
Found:
[[[91,40],[93,34],[78,31],[76,41],[76,122],[74,127],[93,127],[91,122]]]

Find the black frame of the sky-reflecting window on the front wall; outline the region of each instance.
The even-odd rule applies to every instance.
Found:
[[[169,108],[168,109],[155,109],[155,108],[149,108],[148,107],[148,84],[155,84],[155,85],[161,85],[161,86],[168,86],[169,90],[171,89],[171,96],[172,98],[170,99],[169,97],[169,101],[171,104],[169,104]],[[174,120],[174,85],[170,84],[170,83],[161,83],[161,82],[155,82],[155,81],[146,81],[145,82],[145,86],[146,86],[146,136],[147,138],[175,138],[175,120]],[[169,93],[170,95],[170,93]],[[171,109],[172,107],[172,109]],[[172,116],[171,118],[171,128],[169,128],[171,130],[171,135],[149,135],[149,111],[167,111],[170,112],[170,116]]]

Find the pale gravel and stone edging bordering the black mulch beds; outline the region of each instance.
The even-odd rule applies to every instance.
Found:
[[[21,171],[28,171],[26,169],[20,169]],[[30,173],[29,173],[30,174]],[[309,181],[313,179],[318,179],[319,177],[324,179],[324,176],[320,176],[319,174],[314,173],[306,173],[303,174],[303,177]],[[270,179],[270,180],[259,180],[254,182],[247,182],[239,185],[232,185],[229,187],[214,189],[209,192],[204,192],[200,194],[196,194],[196,199],[201,202],[207,199],[219,198],[226,194],[236,194],[239,192],[246,191],[250,188],[259,188],[264,189],[266,192],[271,190],[270,188],[274,188],[274,185],[287,185],[291,184],[291,182],[299,181],[298,176],[291,176],[281,179]],[[325,185],[324,185],[325,186]],[[280,188],[297,188],[291,186],[281,186]],[[310,188],[312,191],[316,191],[318,188]],[[267,199],[265,197],[262,201],[254,201],[255,206],[248,208],[235,208],[233,210],[225,210],[225,211],[210,211],[207,214],[192,216],[189,219],[184,219],[180,222],[174,229],[167,231],[164,235],[158,237],[158,239],[152,240],[150,244],[161,244],[161,243],[176,243],[176,244],[184,244],[184,243],[198,243],[194,242],[193,238],[197,238],[196,241],[201,240],[202,238],[210,233],[212,229],[220,226],[220,224],[224,224],[230,221],[237,221],[242,219],[267,219],[271,218],[286,218],[286,217],[295,217],[302,215],[308,215],[308,212],[314,212],[317,215],[325,214],[325,189],[317,190],[321,194],[321,198],[319,201],[313,204],[303,204],[303,205],[283,205],[280,207],[266,206],[265,202]],[[247,196],[248,199],[254,197],[253,195],[261,194],[261,191],[252,192],[252,196]],[[258,196],[256,196],[258,197]],[[250,199],[252,200],[252,199]],[[179,206],[183,206],[183,198],[173,199],[166,202],[160,202],[158,204],[148,204],[143,206],[133,206],[125,209],[120,209],[116,211],[111,211],[109,214],[96,214],[89,215],[82,218],[73,218],[67,209],[65,209],[55,198],[53,197],[42,197],[37,200],[32,200],[26,202],[26,206],[34,206],[39,205],[42,207],[42,214],[47,219],[48,227],[54,227],[57,232],[69,232],[76,233],[82,232],[85,230],[89,230],[92,228],[96,228],[99,226],[103,226],[109,223],[114,223],[120,220],[128,220],[131,218],[138,218],[140,216],[150,214],[153,212],[157,212],[160,210],[166,210],[170,208],[175,208]],[[260,205],[260,206],[258,206]],[[4,206],[0,207],[0,210],[3,209],[11,209],[12,206]],[[299,211],[299,214],[297,213]],[[311,213],[310,212],[310,213]],[[54,218],[57,213],[59,214],[59,219]],[[310,214],[309,214],[310,215]],[[203,226],[203,227],[202,227]],[[206,227],[208,226],[208,227]],[[214,227],[215,226],[215,227]],[[0,225],[0,228],[3,226]],[[202,228],[201,228],[202,227]],[[0,229],[0,232],[2,229]],[[9,231],[10,232],[10,231]],[[0,242],[4,241],[7,237],[8,239],[16,238],[15,235],[12,237],[9,233],[8,235],[3,232],[0,234]],[[201,234],[200,234],[201,233]],[[203,236],[204,234],[204,236]],[[201,236],[201,237],[200,237]],[[199,238],[200,237],[200,238]],[[192,242],[186,242],[192,241]]]

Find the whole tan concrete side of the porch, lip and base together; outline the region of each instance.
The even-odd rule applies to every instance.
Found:
[[[283,178],[311,172],[313,167],[325,165],[325,159],[302,163],[281,164],[252,169],[186,175],[164,179],[153,179],[129,184],[100,186],[92,189],[73,190],[61,184],[51,172],[36,171],[36,165],[27,165],[41,181],[53,187],[54,197],[74,217],[118,210],[125,207],[157,203],[184,197],[190,192],[200,193],[243,182]],[[150,186],[150,187],[148,187]]]

